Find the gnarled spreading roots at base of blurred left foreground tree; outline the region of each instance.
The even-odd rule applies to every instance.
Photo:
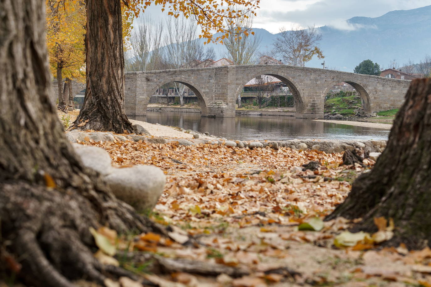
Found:
[[[103,224],[117,231],[168,232],[106,192],[57,191],[26,182],[0,183],[0,190],[0,246],[22,265],[18,277],[29,285],[72,287],[72,280],[103,284],[122,276],[137,280],[94,257],[97,247],[89,228]]]

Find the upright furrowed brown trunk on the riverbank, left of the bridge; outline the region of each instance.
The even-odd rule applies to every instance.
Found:
[[[87,0],[87,90],[70,129],[132,133],[124,108],[121,1]]]

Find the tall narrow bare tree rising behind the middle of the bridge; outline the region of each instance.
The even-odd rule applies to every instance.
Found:
[[[235,10],[240,10],[236,7]],[[243,17],[235,18],[229,23],[228,31],[223,44],[225,45],[225,57],[234,62],[234,65],[251,65],[256,63],[256,52],[262,39],[251,31],[253,25],[253,14],[245,14]],[[244,32],[242,34],[242,32]],[[247,36],[248,35],[248,36]]]

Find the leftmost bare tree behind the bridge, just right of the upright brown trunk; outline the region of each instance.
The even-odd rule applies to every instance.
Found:
[[[131,32],[130,48],[125,52],[125,71],[151,71],[165,68],[162,59],[162,21],[144,15]]]

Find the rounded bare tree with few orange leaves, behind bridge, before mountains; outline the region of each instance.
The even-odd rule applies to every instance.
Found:
[[[273,43],[273,52],[288,65],[305,66],[315,55],[319,59],[324,58],[319,48],[320,40],[322,34],[319,34],[314,25],[307,29],[292,25],[290,31],[283,27]]]

